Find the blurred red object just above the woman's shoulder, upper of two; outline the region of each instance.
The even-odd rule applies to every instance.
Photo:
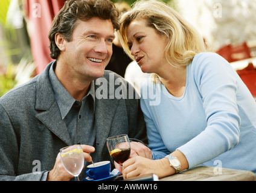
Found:
[[[217,51],[217,54],[228,60],[228,62],[251,58],[251,50],[246,42],[236,46],[231,44],[225,45]]]

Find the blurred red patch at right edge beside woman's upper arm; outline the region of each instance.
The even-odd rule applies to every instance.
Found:
[[[238,70],[237,74],[241,77],[243,82],[246,84],[252,96],[256,98],[256,69],[252,63],[242,70]]]

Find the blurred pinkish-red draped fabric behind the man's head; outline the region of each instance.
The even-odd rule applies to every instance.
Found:
[[[36,74],[40,74],[53,61],[50,57],[48,33],[54,16],[64,4],[65,0],[24,0]]]

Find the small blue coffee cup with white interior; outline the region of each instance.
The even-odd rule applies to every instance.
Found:
[[[109,161],[97,162],[88,165],[85,174],[86,176],[91,177],[94,180],[104,179],[106,177],[109,177],[110,169],[111,166]]]

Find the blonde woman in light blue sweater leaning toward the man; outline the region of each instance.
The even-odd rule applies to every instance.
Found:
[[[231,65],[206,52],[199,33],[163,2],[136,2],[120,34],[142,72],[155,74],[141,87],[152,160],[127,160],[123,176],[164,177],[196,165],[256,173],[256,103]]]

